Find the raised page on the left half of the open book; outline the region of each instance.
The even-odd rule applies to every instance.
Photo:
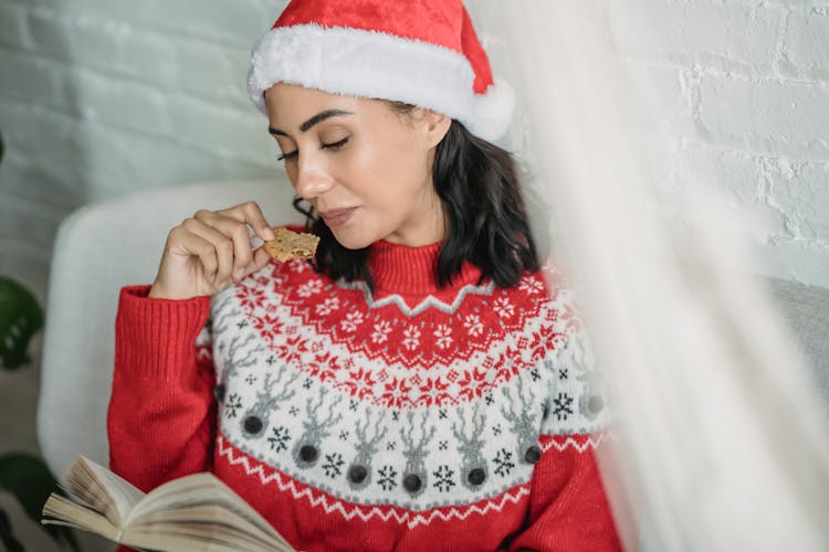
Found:
[[[66,489],[103,513],[114,526],[123,527],[144,492],[104,466],[78,456],[65,477]]]

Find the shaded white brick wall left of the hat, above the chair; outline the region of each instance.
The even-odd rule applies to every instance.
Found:
[[[0,273],[43,298],[76,206],[277,170],[244,81],[284,3],[0,0]]]

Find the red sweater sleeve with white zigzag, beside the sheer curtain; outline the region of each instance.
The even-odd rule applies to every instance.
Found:
[[[533,473],[527,527],[510,550],[621,551],[588,437],[545,435],[542,445],[546,452]]]

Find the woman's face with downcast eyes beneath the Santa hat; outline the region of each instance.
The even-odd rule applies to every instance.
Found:
[[[424,109],[401,115],[382,100],[282,83],[265,103],[291,183],[343,246],[443,238],[432,163],[449,117]]]

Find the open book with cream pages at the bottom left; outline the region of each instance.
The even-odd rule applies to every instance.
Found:
[[[145,495],[80,456],[64,477],[70,498],[52,493],[43,523],[72,526],[145,550],[272,552],[293,549],[212,474],[167,481]]]

